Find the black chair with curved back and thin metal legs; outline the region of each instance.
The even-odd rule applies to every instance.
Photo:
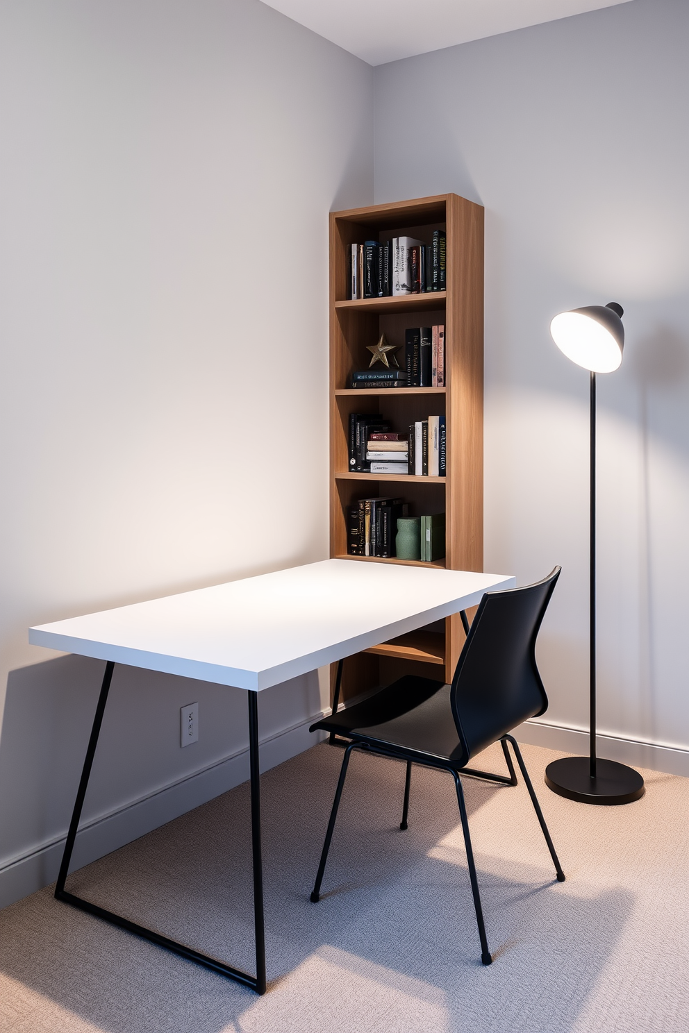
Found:
[[[403,829],[407,827],[412,763],[440,768],[455,777],[483,965],[490,965],[493,959],[486,939],[460,775],[473,775],[516,785],[507,743],[511,743],[524,776],[555,864],[558,881],[564,882],[565,876],[522,753],[516,741],[509,734],[522,721],[542,714],[547,708],[547,696],[536,666],[535,647],[543,615],[559,576],[560,567],[556,567],[553,573],[535,585],[503,592],[487,592],[483,595],[468,630],[451,686],[430,678],[407,676],[379,689],[362,702],[336,712],[311,726],[311,731],[322,728],[331,732],[331,740],[335,735],[341,735],[348,741],[318,874],[311,894],[314,904],[320,899],[320,885],[347,765],[351,752],[355,749],[406,760],[400,824]],[[466,616],[464,621],[466,628]],[[498,741],[502,744],[509,778],[467,768],[472,757]]]

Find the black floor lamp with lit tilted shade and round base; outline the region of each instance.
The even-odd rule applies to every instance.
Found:
[[[558,348],[591,373],[591,752],[562,757],[545,769],[545,784],[583,804],[630,804],[644,795],[644,779],[626,764],[596,757],[596,373],[612,373],[622,362],[623,309],[616,302],[561,312],[551,323]]]

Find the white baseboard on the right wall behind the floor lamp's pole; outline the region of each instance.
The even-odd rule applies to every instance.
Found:
[[[513,732],[519,743],[544,746],[577,756],[589,754],[589,733],[581,728],[568,728],[547,721],[525,721]],[[619,760],[634,768],[649,768],[654,772],[682,775],[689,778],[689,750],[658,743],[644,743],[621,735],[596,737],[596,752],[607,760]]]

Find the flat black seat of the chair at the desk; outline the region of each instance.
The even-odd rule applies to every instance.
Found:
[[[311,726],[348,739],[400,747],[457,763],[466,758],[449,702],[449,685],[408,675],[368,699]]]

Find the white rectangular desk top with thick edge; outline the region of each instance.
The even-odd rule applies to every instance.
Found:
[[[260,690],[475,605],[514,578],[323,560],[29,629],[35,646]]]

